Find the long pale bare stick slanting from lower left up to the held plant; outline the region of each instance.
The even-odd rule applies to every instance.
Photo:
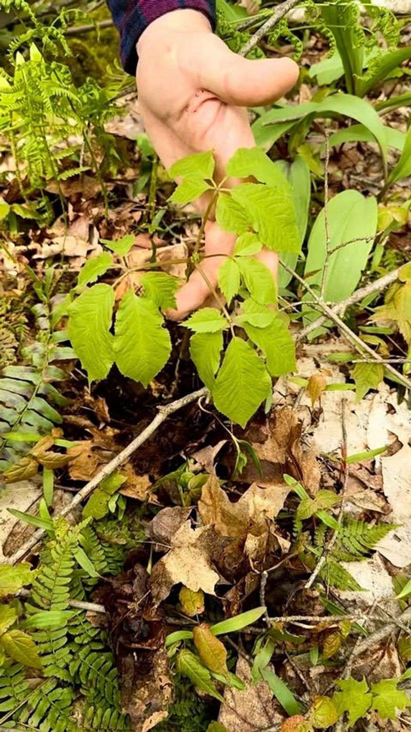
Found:
[[[160,425],[163,424],[163,422],[166,421],[167,417],[170,416],[170,414],[174,414],[174,412],[178,411],[179,409],[182,409],[183,407],[187,406],[188,404],[191,404],[192,402],[195,402],[196,400],[199,400],[201,397],[204,397],[208,394],[208,389],[199,389],[198,392],[192,392],[191,394],[186,395],[185,397],[182,397],[181,399],[177,399],[174,402],[171,402],[167,404],[166,406],[161,406],[158,408],[158,414],[154,417],[153,422],[150,422],[150,425],[148,425],[145,430],[142,431],[130,444],[127,445],[118,455],[113,458],[113,460],[110,460],[110,463],[107,463],[107,465],[104,466],[104,468],[101,468],[99,473],[95,475],[91,481],[89,481],[84,488],[79,490],[78,493],[74,496],[72,501],[69,503],[68,506],[66,506],[62,511],[60,511],[58,514],[55,515],[55,518],[58,516],[66,516],[69,513],[72,512],[72,510],[79,506],[82,501],[85,501],[85,498],[88,498],[88,496],[91,496],[91,493],[93,493],[93,490],[97,488],[97,486],[101,483],[101,481],[107,477],[108,475],[111,475],[114,473],[114,471],[117,468],[120,468],[124,463],[127,462],[129,458],[131,458],[131,455],[133,455],[136,450],[141,447],[141,445],[155,433],[155,430],[160,427]],[[39,531],[36,531],[35,534],[33,534],[28,541],[26,541],[20,549],[18,549],[12,556],[7,557],[5,561],[7,564],[16,564],[20,559],[23,559],[26,554],[33,549],[39,541],[45,536],[45,531],[43,529],[39,529]]]

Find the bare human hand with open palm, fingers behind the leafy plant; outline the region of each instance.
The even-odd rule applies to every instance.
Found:
[[[297,64],[291,59],[249,61],[232,53],[196,10],[174,10],[148,26],[137,43],[137,88],[147,134],[168,169],[194,152],[213,150],[218,180],[240,147],[254,147],[247,106],[279,99],[296,83]],[[226,185],[237,184],[228,181]],[[204,214],[207,201],[196,207]],[[200,307],[217,283],[218,269],[234,248],[235,236],[215,221],[205,228],[205,258],[177,293],[183,318]],[[214,255],[221,256],[214,256]],[[210,256],[211,255],[211,256]],[[262,250],[258,258],[277,275],[277,254]]]

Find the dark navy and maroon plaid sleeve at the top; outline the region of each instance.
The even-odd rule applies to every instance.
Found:
[[[120,33],[120,59],[129,74],[137,68],[136,44],[147,26],[166,12],[191,8],[207,15],[215,26],[215,0],[107,0]]]

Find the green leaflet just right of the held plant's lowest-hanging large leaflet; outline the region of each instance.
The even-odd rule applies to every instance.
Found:
[[[296,370],[296,347],[291,333],[281,315],[274,313],[274,320],[265,328],[244,324],[245,332],[266,356],[271,376],[283,376]]]

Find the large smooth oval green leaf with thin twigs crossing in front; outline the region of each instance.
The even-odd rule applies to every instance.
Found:
[[[347,212],[350,212],[350,215],[347,215]],[[331,256],[326,274],[324,298],[328,302],[340,302],[356,289],[361,272],[366,266],[373,237],[377,231],[377,201],[374,197],[364,198],[356,190],[345,190],[329,201],[327,219]],[[361,241],[342,246],[352,239]],[[337,247],[340,248],[332,253]],[[308,242],[305,277],[309,285],[320,285],[326,254],[326,223],[322,209],[312,227]],[[307,299],[310,299],[310,295],[307,295]],[[306,321],[311,322],[318,318],[318,313],[304,307],[304,316]]]

